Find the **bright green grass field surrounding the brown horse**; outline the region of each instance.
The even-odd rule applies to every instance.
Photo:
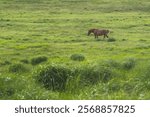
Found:
[[[0,0],[0,99],[150,99],[149,0]]]

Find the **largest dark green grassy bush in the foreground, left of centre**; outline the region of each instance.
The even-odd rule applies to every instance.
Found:
[[[39,68],[34,73],[34,78],[46,89],[64,91],[70,73],[71,71],[64,66],[50,65]]]

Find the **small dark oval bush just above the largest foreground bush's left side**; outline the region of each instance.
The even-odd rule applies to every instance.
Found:
[[[37,65],[37,64],[42,63],[44,61],[47,61],[46,56],[38,56],[38,57],[35,57],[35,58],[31,59],[31,64],[32,65]]]

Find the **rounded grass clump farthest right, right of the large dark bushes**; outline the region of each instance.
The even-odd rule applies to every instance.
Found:
[[[125,60],[122,63],[122,67],[123,67],[123,69],[130,70],[130,69],[134,68],[135,64],[136,64],[136,62],[135,62],[134,58],[128,58],[127,60]]]

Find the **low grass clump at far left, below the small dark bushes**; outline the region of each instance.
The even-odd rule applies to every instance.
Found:
[[[21,63],[15,63],[9,66],[9,72],[17,73],[17,72],[25,72],[27,69]]]

